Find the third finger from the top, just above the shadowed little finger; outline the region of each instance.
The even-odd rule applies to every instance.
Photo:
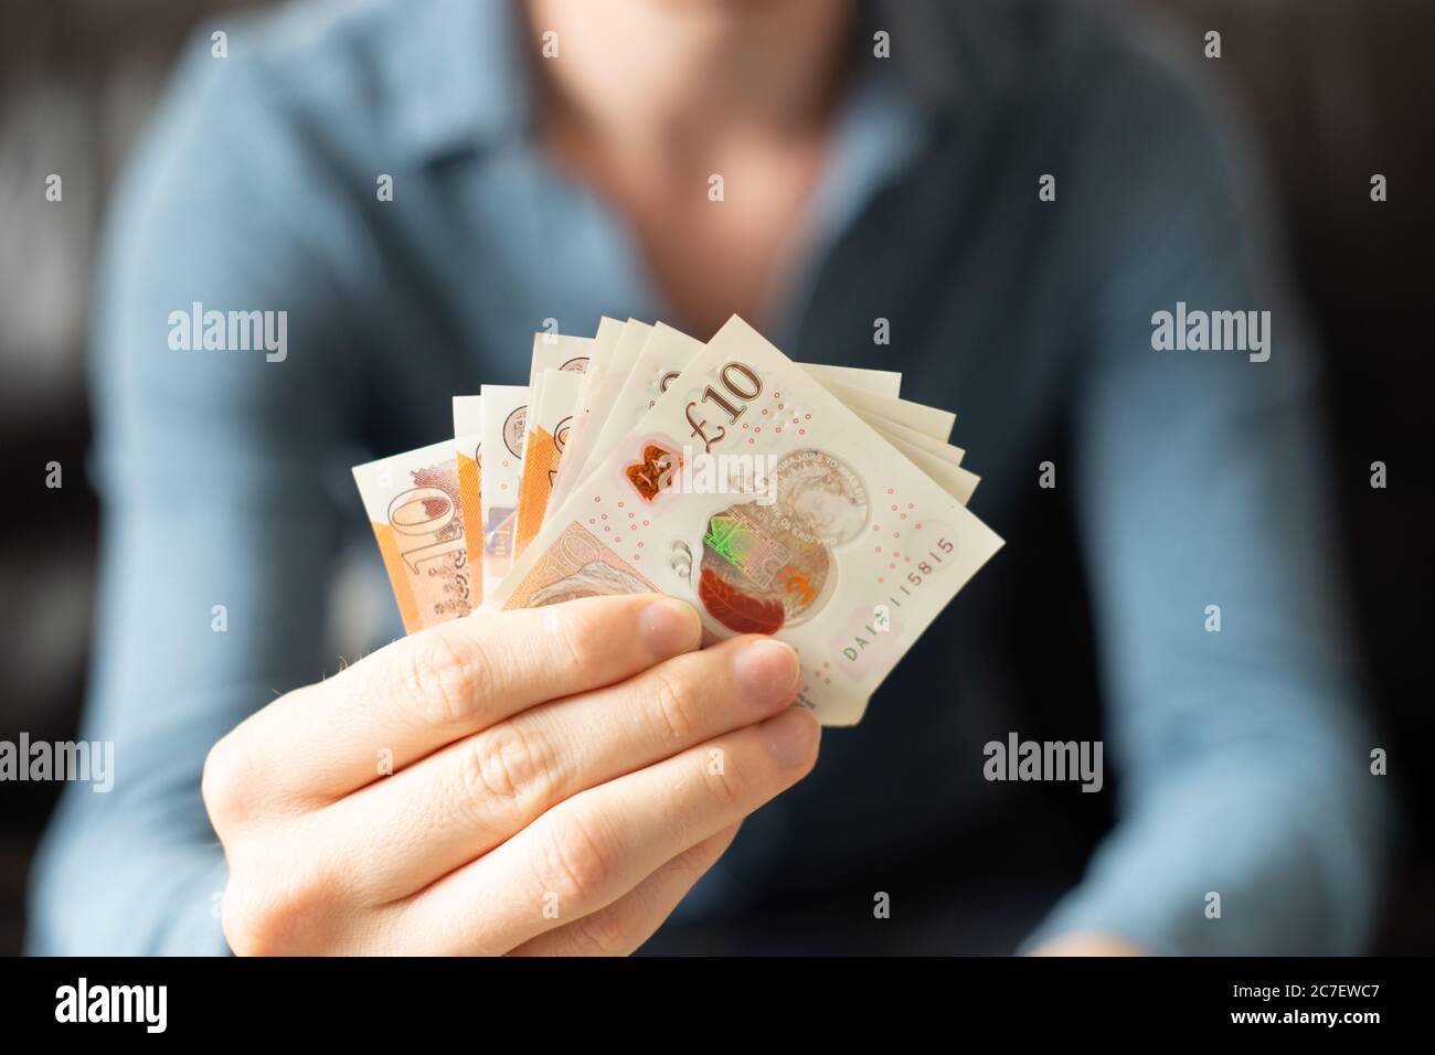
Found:
[[[395,932],[413,952],[502,953],[598,911],[811,772],[818,735],[789,708],[574,795],[395,906]]]

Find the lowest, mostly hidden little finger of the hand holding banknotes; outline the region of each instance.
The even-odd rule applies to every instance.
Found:
[[[716,864],[740,825],[684,850],[607,909],[540,934],[511,956],[627,956],[663,926],[677,903]]]

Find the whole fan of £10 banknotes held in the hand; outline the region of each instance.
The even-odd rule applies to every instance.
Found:
[[[1000,547],[967,510],[956,415],[901,375],[795,363],[733,316],[534,336],[528,385],[453,398],[453,438],[354,468],[413,632],[617,593],[690,601],[709,643],[765,633],[796,702],[854,725]]]

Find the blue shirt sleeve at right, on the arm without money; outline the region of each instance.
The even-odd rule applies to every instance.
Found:
[[[1168,953],[1353,953],[1389,817],[1313,360],[1273,281],[1248,151],[1200,98],[1147,60],[1109,78],[1062,181],[1075,244],[1111,250],[1073,309],[1091,357],[1071,380],[1066,479],[1118,822],[1027,947],[1104,932]],[[1154,349],[1154,313],[1178,301],[1269,310],[1269,360]]]

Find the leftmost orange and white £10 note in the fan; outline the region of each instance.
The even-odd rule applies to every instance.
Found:
[[[478,606],[453,444],[354,466],[369,525],[408,633]]]

